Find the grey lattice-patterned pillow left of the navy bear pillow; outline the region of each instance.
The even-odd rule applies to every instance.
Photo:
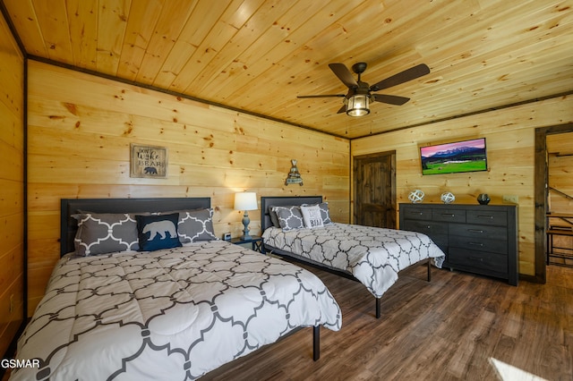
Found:
[[[114,251],[139,250],[133,215],[81,212],[73,215],[78,232],[73,239],[76,255],[90,256]]]

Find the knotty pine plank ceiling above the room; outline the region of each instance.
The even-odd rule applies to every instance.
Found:
[[[573,0],[2,0],[28,55],[350,139],[573,92]],[[337,114],[329,63],[371,85]]]

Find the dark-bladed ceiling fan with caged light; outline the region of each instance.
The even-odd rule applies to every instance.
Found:
[[[335,95],[311,95],[311,96],[298,96],[299,98],[306,97],[344,97],[345,105],[342,106],[337,114],[344,113],[350,116],[363,116],[370,114],[370,102],[382,102],[389,105],[401,106],[404,105],[409,97],[398,97],[386,94],[372,94],[373,91],[381,89],[388,89],[392,86],[399,85],[400,83],[407,82],[408,80],[415,80],[430,73],[430,68],[425,63],[420,63],[404,72],[398,72],[391,77],[376,82],[372,86],[360,80],[362,73],[366,70],[366,63],[355,63],[352,65],[352,71],[358,74],[358,80],[352,76],[352,73],[346,68],[344,63],[329,63],[329,68],[339,80],[348,88],[345,94]]]

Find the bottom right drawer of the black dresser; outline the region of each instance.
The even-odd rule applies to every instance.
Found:
[[[459,269],[480,269],[481,274],[507,275],[508,257],[492,252],[450,248],[448,254],[450,267]]]

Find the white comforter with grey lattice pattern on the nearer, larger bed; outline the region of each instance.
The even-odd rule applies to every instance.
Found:
[[[298,326],[341,324],[317,276],[226,241],[64,257],[18,342],[40,367],[11,379],[195,379]]]

